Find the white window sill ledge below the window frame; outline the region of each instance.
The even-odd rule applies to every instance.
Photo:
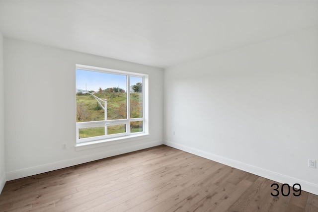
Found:
[[[138,135],[131,135],[131,136],[126,136],[126,137],[114,138],[114,139],[77,143],[75,145],[75,150],[80,151],[80,150],[85,150],[85,149],[97,148],[97,147],[101,147],[101,146],[114,145],[114,144],[118,144],[118,143],[138,141],[138,140],[148,139],[148,138],[149,138],[149,134],[138,134]]]

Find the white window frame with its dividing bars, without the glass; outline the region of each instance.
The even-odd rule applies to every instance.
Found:
[[[76,122],[76,143],[82,144],[86,142],[94,143],[93,141],[112,141],[115,138],[122,138],[127,139],[130,137],[135,137],[139,134],[149,134],[148,131],[148,74],[143,73],[136,73],[136,72],[129,72],[129,71],[119,71],[119,70],[112,70],[106,68],[98,68],[98,67],[91,67],[85,65],[76,65],[76,69],[84,70],[84,71],[97,71],[97,72],[104,72],[104,73],[112,73],[112,74],[119,74],[127,76],[126,81],[126,95],[127,95],[127,119],[117,119],[117,120],[103,120],[103,121],[90,121],[90,122]],[[143,117],[142,118],[130,118],[130,76],[142,77],[143,78]],[[107,110],[107,109],[106,109]],[[130,132],[130,122],[134,121],[143,121],[143,131],[131,133]],[[79,139],[79,129],[81,128],[90,128],[90,127],[105,127],[105,126],[112,126],[112,125],[126,125],[126,132],[125,133],[118,133],[118,134],[111,134],[111,135],[104,135],[104,136],[96,136],[90,138],[82,138]]]

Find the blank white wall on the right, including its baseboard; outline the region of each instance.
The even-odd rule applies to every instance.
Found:
[[[318,28],[164,70],[165,143],[318,194]],[[175,135],[172,132],[175,131]]]

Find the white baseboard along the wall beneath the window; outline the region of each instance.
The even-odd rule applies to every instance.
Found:
[[[97,154],[85,155],[83,157],[72,158],[68,160],[58,161],[54,163],[44,164],[40,166],[34,166],[29,168],[24,168],[16,171],[11,171],[6,173],[6,180],[15,180],[22,177],[27,177],[35,174],[40,174],[48,171],[53,171],[61,168],[66,168],[69,166],[78,165],[81,163],[87,163],[94,160],[99,160],[107,157],[112,157],[119,154],[124,154],[132,151],[141,150],[144,148],[149,148],[153,146],[158,146],[163,144],[163,141],[153,141],[153,142],[144,142],[137,145],[129,145],[127,147],[118,148],[115,150],[109,150],[105,152],[100,152]],[[2,178],[1,178],[2,180]],[[5,183],[5,181],[4,181]],[[2,184],[1,184],[2,185]]]

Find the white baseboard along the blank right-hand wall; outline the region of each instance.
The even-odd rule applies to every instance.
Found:
[[[267,169],[252,166],[246,163],[241,163],[236,160],[232,160],[226,157],[212,154],[210,152],[188,147],[179,143],[175,143],[171,141],[163,141],[163,144],[261,176],[261,177],[264,177],[264,178],[267,178],[267,179],[270,179],[270,180],[273,180],[273,181],[276,181],[276,182],[279,182],[279,183],[288,183],[289,185],[294,185],[295,183],[299,183],[302,186],[302,190],[318,195],[318,184],[314,184],[304,180],[289,177],[280,173],[276,173]]]

